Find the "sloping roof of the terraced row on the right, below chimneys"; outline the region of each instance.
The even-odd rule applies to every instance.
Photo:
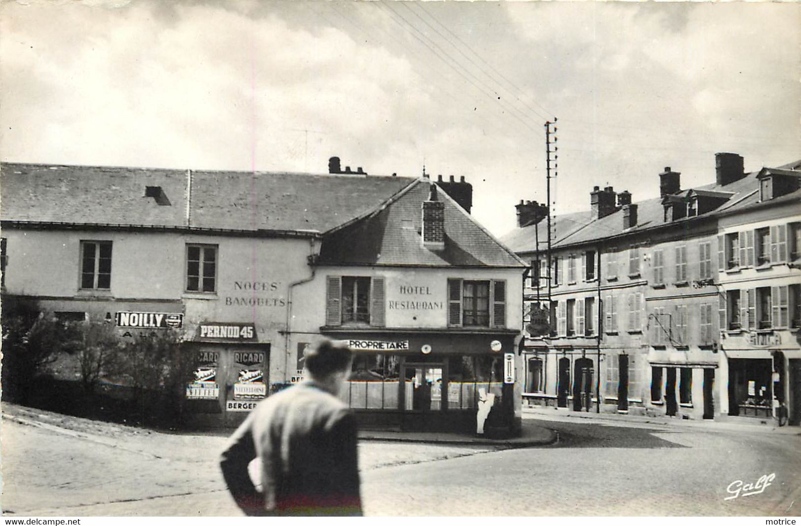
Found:
[[[779,170],[798,173],[792,171],[798,170],[799,168],[801,168],[801,161],[779,167]],[[759,175],[759,172],[755,171],[727,185],[711,183],[698,187],[698,189],[695,190],[697,195],[730,198],[714,211],[707,212],[704,215],[710,216],[722,213],[723,211],[735,211],[759,203],[759,179],[757,179],[757,175]],[[688,190],[685,190],[677,195],[686,195],[687,192]],[[796,191],[794,194],[798,192],[801,191]],[[560,247],[574,243],[586,243],[597,239],[622,235],[624,233],[634,233],[659,225],[677,223],[676,221],[665,223],[662,198],[646,199],[635,204],[638,205],[637,225],[625,231],[623,229],[623,212],[621,209],[601,219],[591,219],[590,211],[554,216],[551,219],[551,225],[555,232],[552,247]],[[681,221],[681,219],[678,221]],[[537,225],[517,228],[502,236],[501,241],[517,254],[533,252],[536,250],[535,231],[539,239],[540,249],[544,250],[545,240],[547,239],[545,219],[537,223]]]

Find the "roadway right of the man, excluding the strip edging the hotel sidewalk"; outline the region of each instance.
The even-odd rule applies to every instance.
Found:
[[[559,432],[559,443],[547,448],[368,472],[367,512],[752,516],[801,509],[799,436],[570,420],[526,420]],[[775,480],[763,493],[724,500],[733,481],[771,473]]]

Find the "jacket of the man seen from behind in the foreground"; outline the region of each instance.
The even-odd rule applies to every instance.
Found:
[[[260,402],[223,452],[228,490],[248,515],[361,515],[356,421],[312,381]],[[259,458],[262,491],[248,476]]]

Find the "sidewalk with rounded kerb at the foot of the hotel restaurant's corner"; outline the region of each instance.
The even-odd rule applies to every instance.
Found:
[[[461,435],[457,433],[402,432],[393,430],[360,430],[359,440],[380,440],[387,442],[420,442],[425,444],[450,445],[486,445],[501,448],[532,448],[553,444],[558,439],[557,432],[523,421],[521,436],[509,439],[493,440],[478,435]]]

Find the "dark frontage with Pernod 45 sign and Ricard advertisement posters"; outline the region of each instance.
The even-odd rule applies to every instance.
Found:
[[[253,323],[200,323],[185,352],[186,424],[238,425],[268,396],[270,343],[259,342]]]

